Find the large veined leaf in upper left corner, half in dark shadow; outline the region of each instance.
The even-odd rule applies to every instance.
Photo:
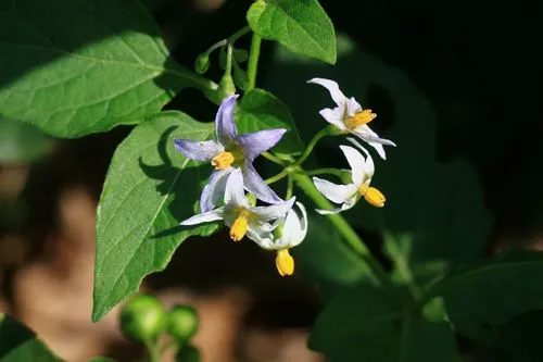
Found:
[[[173,62],[134,0],[2,1],[0,63],[0,115],[68,138],[139,123],[180,88],[210,86]]]

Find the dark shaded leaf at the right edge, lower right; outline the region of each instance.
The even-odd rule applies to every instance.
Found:
[[[543,309],[542,274],[543,252],[512,251],[449,276],[434,290],[458,333],[490,339],[496,326]]]

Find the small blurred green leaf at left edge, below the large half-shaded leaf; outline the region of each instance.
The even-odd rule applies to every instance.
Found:
[[[54,148],[54,140],[26,123],[0,117],[0,163],[35,161]]]

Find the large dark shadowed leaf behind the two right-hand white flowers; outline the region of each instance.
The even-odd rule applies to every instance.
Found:
[[[287,104],[296,104],[292,114],[305,135],[316,132],[319,120],[321,126],[327,124],[318,111],[334,104],[326,89],[305,82],[315,75],[337,80],[346,97],[355,97],[378,114],[371,128],[396,142],[397,147],[386,148],[387,161],[372,152],[376,174],[371,185],[386,195],[386,207],[376,209],[362,200],[343,215],[357,228],[374,234],[390,232],[407,240],[411,245],[403,249],[408,251],[404,259],[417,271],[417,279],[418,271],[425,279],[434,276],[426,273],[430,266],[432,273],[442,274],[443,266],[477,260],[492,216],[472,166],[460,160],[438,161],[438,118],[430,99],[401,70],[345,39],[338,45],[342,51],[333,68],[279,48],[268,73],[273,76],[265,84]],[[338,145],[345,142],[344,137],[325,139],[314,153],[319,166],[346,166],[338,150]]]

